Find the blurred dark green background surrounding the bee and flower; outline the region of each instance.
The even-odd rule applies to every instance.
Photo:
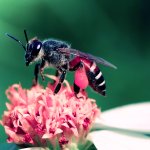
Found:
[[[26,67],[22,47],[5,36],[10,33],[25,43],[24,29],[29,38],[62,39],[118,67],[100,65],[107,83],[106,97],[87,88],[102,110],[149,101],[149,7],[145,0],[1,0],[0,114],[6,109],[5,90],[13,83],[29,88],[33,79],[34,65]],[[53,74],[54,70],[47,72]],[[72,83],[73,73],[67,79]],[[0,132],[2,143],[6,138],[2,127]]]

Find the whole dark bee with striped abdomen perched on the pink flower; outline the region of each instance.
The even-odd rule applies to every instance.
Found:
[[[64,41],[55,39],[41,41],[36,37],[28,40],[26,30],[24,30],[26,46],[14,36],[7,33],[6,35],[18,42],[25,50],[26,66],[33,62],[38,62],[34,69],[35,84],[38,82],[39,73],[44,80],[44,68],[54,67],[58,75],[58,83],[54,89],[54,94],[59,92],[67,71],[75,71],[75,94],[78,94],[80,89],[85,89],[89,85],[94,91],[105,96],[106,84],[97,64],[103,64],[116,69],[115,65],[100,57],[72,49],[70,44]]]

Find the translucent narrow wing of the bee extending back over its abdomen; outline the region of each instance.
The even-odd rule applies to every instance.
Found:
[[[113,65],[112,63],[108,62],[107,60],[105,60],[105,59],[103,59],[103,58],[101,58],[101,57],[96,57],[96,56],[93,56],[93,55],[91,55],[91,54],[78,51],[78,50],[76,50],[76,49],[60,48],[60,51],[61,51],[62,53],[72,54],[72,55],[74,55],[74,56],[83,57],[83,58],[85,58],[85,59],[89,59],[89,60],[95,61],[95,62],[98,63],[98,64],[102,64],[102,65],[104,65],[104,66],[108,66],[108,67],[117,69],[117,67],[116,67],[115,65]]]

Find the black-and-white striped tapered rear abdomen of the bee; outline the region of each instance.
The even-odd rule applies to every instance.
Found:
[[[102,72],[93,62],[90,70],[87,72],[89,85],[98,93],[105,96],[106,84]]]

